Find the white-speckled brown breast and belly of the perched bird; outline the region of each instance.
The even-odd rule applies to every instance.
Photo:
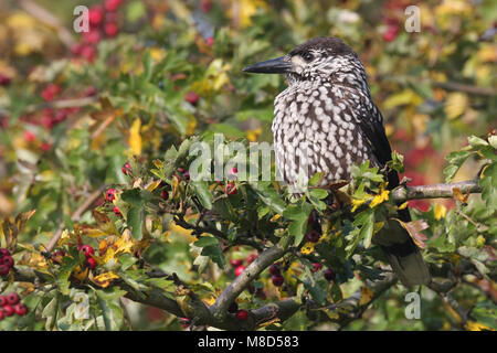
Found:
[[[350,179],[353,163],[372,153],[358,125],[360,107],[329,85],[289,86],[275,99],[273,137],[276,163],[289,184],[324,172],[321,185]]]

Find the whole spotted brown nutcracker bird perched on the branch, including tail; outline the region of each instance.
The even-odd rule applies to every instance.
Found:
[[[352,164],[369,160],[382,169],[392,150],[358,55],[341,40],[316,38],[287,55],[253,64],[247,73],[284,74],[288,87],[274,101],[273,136],[277,169],[285,183],[325,174],[322,185],[350,180]],[[304,172],[303,172],[304,171]],[[388,188],[399,185],[395,171]],[[408,210],[398,217],[411,221]],[[430,271],[409,233],[390,221],[373,237],[400,280],[426,285]]]

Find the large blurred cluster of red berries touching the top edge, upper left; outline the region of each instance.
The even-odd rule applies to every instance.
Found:
[[[114,38],[119,33],[116,11],[121,3],[123,0],[105,0],[104,6],[95,4],[89,8],[89,31],[84,32],[81,42],[71,49],[75,57],[93,62],[96,55],[96,45],[102,38]]]

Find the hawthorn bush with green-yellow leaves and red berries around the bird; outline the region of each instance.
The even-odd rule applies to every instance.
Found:
[[[408,6],[2,2],[0,329],[495,330],[495,11],[427,1],[408,33]],[[391,192],[364,163],[332,202],[319,174],[297,197],[228,148],[271,143],[285,86],[242,67],[322,35],[364,62]],[[193,178],[199,143],[221,180]],[[399,207],[427,287],[373,245]]]

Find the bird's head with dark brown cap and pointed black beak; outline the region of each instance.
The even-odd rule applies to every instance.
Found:
[[[285,56],[243,68],[246,73],[284,74],[289,83],[305,81],[358,84],[366,79],[357,54],[337,38],[315,38],[294,47]]]

